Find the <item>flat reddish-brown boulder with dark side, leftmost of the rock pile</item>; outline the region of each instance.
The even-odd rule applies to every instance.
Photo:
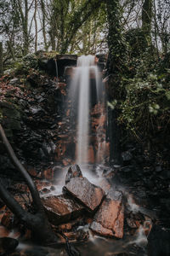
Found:
[[[67,195],[54,195],[42,198],[43,207],[49,221],[54,224],[69,222],[82,215],[84,208]]]

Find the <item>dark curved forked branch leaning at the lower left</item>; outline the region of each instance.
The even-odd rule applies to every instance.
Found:
[[[29,173],[26,171],[25,167],[21,165],[20,160],[14,154],[14,150],[11,147],[8,139],[3,131],[2,125],[0,125],[0,136],[2,137],[5,148],[7,149],[8,155],[12,160],[14,166],[20,172],[20,174],[26,180],[26,184],[30,189],[32,201],[35,206],[35,214],[26,212],[20,204],[14,200],[13,196],[4,188],[2,180],[0,178],[0,197],[5,202],[7,207],[14,212],[17,218],[19,218],[22,224],[26,225],[26,228],[31,230],[32,237],[36,239],[39,243],[43,245],[51,245],[57,242],[57,238],[54,235],[54,231],[48,222],[48,218],[44,212],[42,202],[37,191],[35,184],[33,183]]]

